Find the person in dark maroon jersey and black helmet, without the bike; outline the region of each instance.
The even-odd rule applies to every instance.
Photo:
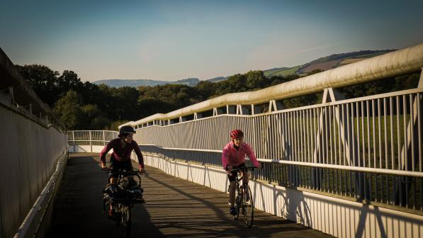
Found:
[[[132,140],[132,135],[135,134],[134,128],[130,125],[124,125],[119,129],[119,137],[111,140],[108,144],[101,150],[100,159],[101,159],[101,169],[108,171],[108,166],[106,166],[106,154],[113,149],[111,155],[111,170],[125,169],[126,171],[132,171],[132,163],[130,159],[130,153],[132,149],[135,151],[138,157],[138,163],[140,166],[140,174],[145,173],[144,169],[144,159],[138,147],[137,142]],[[111,183],[115,183],[117,174],[111,174]],[[135,184],[136,182],[130,178],[130,185]]]

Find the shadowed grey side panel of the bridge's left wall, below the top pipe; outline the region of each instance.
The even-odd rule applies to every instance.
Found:
[[[67,149],[56,128],[0,104],[0,237],[12,237]]]

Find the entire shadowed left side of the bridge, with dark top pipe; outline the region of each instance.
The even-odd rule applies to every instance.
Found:
[[[1,49],[0,121],[0,237],[43,237],[67,137]]]

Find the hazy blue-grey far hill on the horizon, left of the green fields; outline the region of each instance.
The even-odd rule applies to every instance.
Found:
[[[152,79],[103,79],[94,81],[93,84],[106,84],[111,87],[122,87],[122,86],[157,86],[164,84],[185,84],[188,86],[196,86],[200,80],[197,78],[181,79],[178,81],[159,81]]]

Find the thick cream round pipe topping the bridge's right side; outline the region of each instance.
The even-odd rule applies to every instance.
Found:
[[[384,79],[417,72],[423,67],[423,44],[407,47],[385,55],[361,60],[343,67],[330,69],[308,77],[295,79],[283,84],[251,92],[225,94],[192,106],[187,106],[170,113],[157,113],[147,118],[131,121],[123,125],[141,125],[152,120],[169,120],[180,116],[191,115],[226,105],[259,104],[271,100],[281,100],[295,96],[303,96],[323,91],[326,88],[340,88],[368,81]],[[120,125],[120,126],[123,126]]]

